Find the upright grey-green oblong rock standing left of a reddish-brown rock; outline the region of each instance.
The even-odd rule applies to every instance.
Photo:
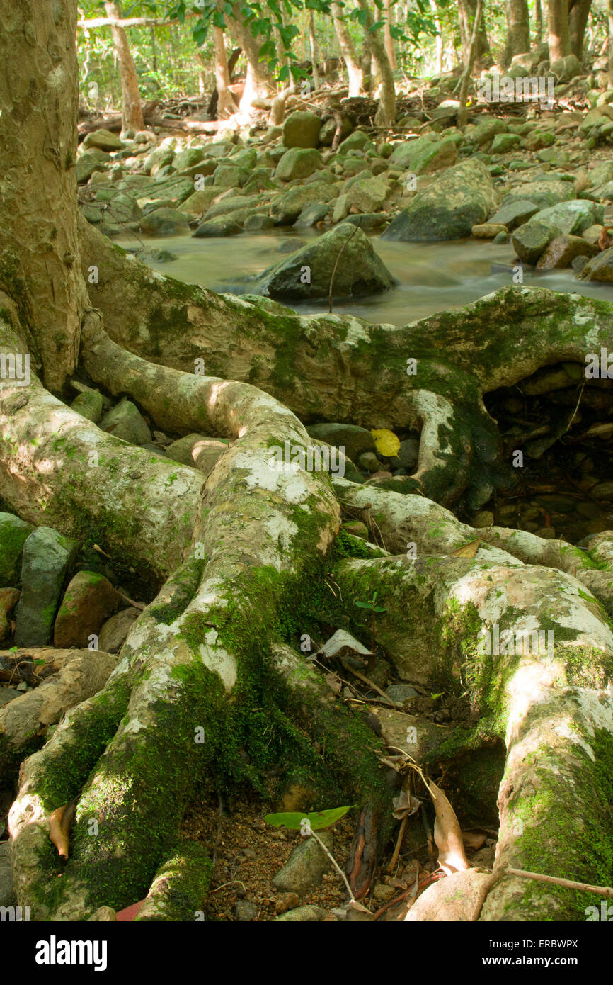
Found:
[[[62,587],[78,544],[50,527],[38,527],[24,545],[22,594],[17,606],[17,646],[51,641]]]

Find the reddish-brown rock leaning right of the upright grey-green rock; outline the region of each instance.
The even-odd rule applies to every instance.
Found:
[[[53,645],[86,649],[92,634],[117,612],[123,600],[103,574],[79,571],[69,582],[53,629]]]

